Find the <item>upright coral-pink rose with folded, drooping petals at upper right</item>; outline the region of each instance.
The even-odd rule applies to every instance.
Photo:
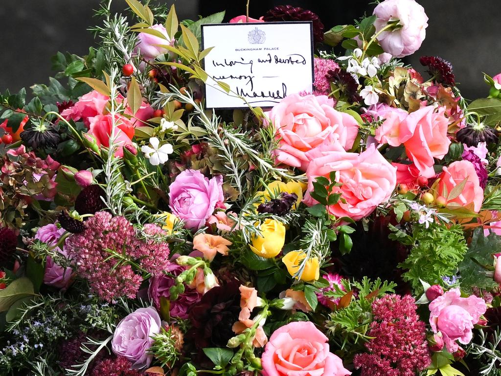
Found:
[[[444,111],[443,107],[435,112],[433,106],[425,106],[410,113],[400,124],[400,141],[407,156],[424,177],[435,175],[433,158],[442,159],[449,151],[449,122]]]

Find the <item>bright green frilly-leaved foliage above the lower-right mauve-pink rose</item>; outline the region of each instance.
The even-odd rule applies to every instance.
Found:
[[[409,256],[398,267],[407,269],[403,278],[411,283],[416,294],[422,293],[419,279],[443,285],[442,276],[455,275],[466,254],[466,241],[459,225],[447,228],[435,222],[427,229],[415,225],[411,235],[405,235],[393,226],[390,229],[396,230],[390,239],[412,246]]]

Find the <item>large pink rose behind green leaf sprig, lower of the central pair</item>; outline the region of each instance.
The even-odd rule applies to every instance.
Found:
[[[341,193],[341,200],[328,207],[330,214],[336,217],[349,217],[355,221],[372,213],[382,202],[388,200],[396,185],[396,168],[371,145],[364,152],[347,153],[331,151],[313,159],[306,170],[308,192],[304,202],[317,204],[310,196],[313,182],[318,176],[329,177],[336,171],[336,181],[342,183],[333,193]]]

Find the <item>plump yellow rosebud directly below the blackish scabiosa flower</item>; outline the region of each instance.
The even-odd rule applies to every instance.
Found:
[[[285,244],[285,226],[268,218],[261,225],[261,233],[261,236],[253,238],[250,249],[265,259],[277,256]]]

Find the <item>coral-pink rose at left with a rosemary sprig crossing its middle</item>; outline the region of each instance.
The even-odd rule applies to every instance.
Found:
[[[112,130],[112,120],[110,114],[97,115],[89,118],[89,134],[96,138],[98,146],[110,146],[110,135]],[[123,156],[123,146],[132,144],[134,137],[134,127],[130,120],[122,115],[115,115],[115,143],[119,145],[115,151],[116,156]]]

